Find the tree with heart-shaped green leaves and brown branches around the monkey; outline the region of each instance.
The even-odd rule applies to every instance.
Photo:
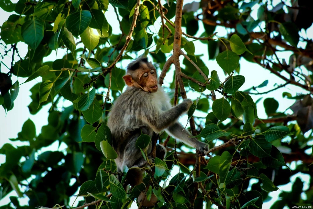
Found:
[[[313,149],[313,51],[306,30],[313,22],[313,3],[274,2],[202,0],[183,5],[182,0],[0,0],[0,7],[12,12],[0,33],[5,51],[0,58],[12,57],[10,65],[0,63],[0,105],[6,112],[12,110],[19,81],[42,78],[30,89],[29,112],[37,114],[44,105],[51,106],[49,123],[39,135],[29,119],[18,137],[10,139],[28,145],[7,143],[0,149],[6,155],[0,166],[0,200],[12,190],[18,197],[29,197],[28,206],[20,206],[12,196],[12,204],[1,208],[70,207],[69,197],[77,193],[85,196],[77,209],[129,208],[141,192],[148,200],[157,197],[153,208],[261,208],[269,192],[290,182],[290,176],[312,174],[312,155],[307,150]],[[106,15],[109,4],[116,17]],[[255,5],[259,5],[257,11],[251,9]],[[257,19],[252,17],[255,12]],[[116,18],[119,26],[110,25],[109,18]],[[154,32],[152,28],[159,24]],[[203,34],[195,36],[202,24]],[[116,27],[119,34],[112,33]],[[224,28],[227,35],[216,34],[217,27]],[[28,45],[25,57],[19,55],[20,42]],[[196,48],[199,42],[208,50]],[[57,50],[64,52],[62,59],[43,61]],[[199,51],[216,60],[225,74],[209,72],[208,61]],[[290,52],[288,63],[280,57],[282,51]],[[142,53],[162,70],[160,85],[169,70],[174,72],[173,78],[166,78],[173,105],[187,95],[198,97],[188,111],[190,131],[211,149],[204,155],[185,153],[184,145],[163,133],[159,140],[169,150],[166,161],[156,159],[146,172],[145,184],[126,194],[125,178],[120,183],[115,177],[115,154],[105,124],[111,102],[124,88],[122,67]],[[264,80],[239,90],[246,82],[245,75],[239,75],[239,62],[244,61],[280,78],[278,84],[261,91],[269,82]],[[226,78],[220,80],[222,76]],[[279,102],[268,97],[263,102],[268,118],[260,119],[256,104],[261,97],[285,87],[289,89],[280,102],[294,99],[293,114],[278,112]],[[304,93],[297,94],[294,87]],[[260,99],[254,101],[251,95]],[[71,105],[60,107],[65,100]],[[195,111],[203,116],[192,116]],[[156,139],[151,140],[155,146]],[[64,142],[66,151],[41,152],[55,141]],[[100,144],[108,147],[103,153]],[[298,163],[290,169],[292,162]],[[171,176],[174,165],[180,171]],[[126,176],[126,170],[123,174]],[[258,181],[248,188],[253,178]],[[297,178],[292,190],[280,193],[272,208],[311,205],[312,178],[309,189],[303,190],[303,184]]]

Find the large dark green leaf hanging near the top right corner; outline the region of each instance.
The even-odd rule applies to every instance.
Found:
[[[299,29],[296,24],[292,22],[285,22],[279,25],[279,31],[284,39],[288,41],[292,46],[297,47],[300,36]]]

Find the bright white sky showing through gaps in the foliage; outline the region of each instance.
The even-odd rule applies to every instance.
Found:
[[[13,3],[16,3],[17,0],[13,0]],[[193,2],[192,0],[185,0],[184,3],[191,3]],[[275,1],[274,1],[275,2]],[[280,2],[280,0],[276,0],[277,3]],[[254,6],[254,12],[252,13],[252,17],[254,19],[256,18],[256,11],[257,8],[259,7],[259,5],[255,5]],[[0,25],[3,24],[3,22],[5,20],[8,19],[9,17],[9,13],[3,11],[0,8]],[[105,12],[105,16],[106,17],[115,17],[115,13],[113,8],[109,5],[109,9],[108,11]],[[119,25],[118,21],[115,18],[107,18],[109,24],[111,26],[117,26]],[[160,20],[158,19],[157,22],[160,22]],[[198,31],[198,33],[196,34],[196,36],[200,36],[204,29],[203,29],[203,25],[202,23],[199,23],[200,29]],[[156,25],[155,28],[151,27],[151,31],[152,32],[158,32],[160,28],[160,25]],[[183,29],[184,30],[184,29]],[[119,27],[113,27],[113,33],[114,34],[118,34],[120,31]],[[226,30],[223,27],[217,27],[216,31],[218,32],[218,36],[219,37],[223,37],[224,35],[227,34],[227,32],[229,32],[230,30]],[[313,27],[311,26],[308,30],[307,30],[307,34],[305,34],[305,31],[302,30],[301,31],[301,36],[308,39],[312,39],[313,38]],[[196,48],[196,54],[203,54],[202,56],[202,60],[207,64],[207,67],[209,68],[210,71],[212,70],[216,70],[218,72],[218,76],[220,78],[221,81],[224,80],[224,78],[226,78],[226,76],[224,75],[223,70],[218,66],[217,62],[214,61],[209,61],[208,60],[208,51],[207,51],[207,45],[202,44],[200,41],[195,41],[195,48]],[[299,43],[298,47],[303,46],[303,44],[301,45],[301,43]],[[200,51],[201,49],[203,49],[203,51]],[[21,57],[24,57],[27,53],[27,45],[25,43],[19,42],[18,43],[18,51],[21,55]],[[153,50],[151,50],[153,51]],[[0,48],[0,53],[3,54],[3,47],[1,46]],[[140,54],[140,53],[139,53]],[[278,57],[280,57],[281,59],[285,59],[286,62],[288,63],[289,61],[289,56],[291,55],[290,52],[280,52],[277,53]],[[55,60],[55,59],[60,59],[62,58],[64,55],[64,53],[59,49],[58,54],[56,55],[55,51],[53,51],[48,57],[44,58],[44,61],[50,61],[50,60]],[[15,58],[15,60],[18,60],[17,57]],[[7,66],[10,66],[11,63],[11,57],[6,56],[4,60],[2,60]],[[181,59],[181,63],[182,63],[182,59]],[[126,63],[127,64],[127,63]],[[282,84],[284,83],[283,80],[281,80],[280,78],[276,77],[275,75],[271,74],[269,71],[264,70],[262,67],[260,67],[257,64],[253,64],[250,62],[247,62],[246,60],[244,60],[243,58],[240,60],[240,75],[243,75],[246,79],[246,82],[244,83],[244,85],[240,88],[241,90],[245,90],[248,88],[251,88],[252,86],[257,86],[259,84],[261,84],[264,80],[268,79],[269,83],[267,85],[267,87],[261,88],[259,89],[260,92],[264,92],[270,89],[275,88],[274,85],[277,84]],[[125,62],[123,62],[123,67],[125,67]],[[2,65],[2,72],[8,72],[8,69],[6,69],[6,67],[4,67],[4,65]],[[169,78],[168,80],[165,80],[165,85],[167,86],[167,82],[171,81],[170,79],[172,79],[172,71],[168,72],[168,75],[166,78]],[[282,72],[282,74],[284,76],[286,76],[288,78],[287,73]],[[16,76],[12,77],[13,83],[16,81]],[[18,78],[19,83],[23,83],[26,80],[26,78]],[[0,107],[0,147],[3,146],[3,144],[5,143],[12,143],[13,145],[16,146],[20,146],[22,144],[28,144],[26,142],[11,142],[9,140],[9,138],[16,138],[17,137],[17,133],[19,131],[21,131],[23,123],[30,118],[36,125],[36,133],[37,135],[40,133],[41,131],[41,127],[43,125],[46,125],[48,123],[47,118],[48,118],[48,110],[50,108],[49,105],[44,106],[36,115],[31,115],[29,113],[28,110],[28,105],[31,102],[30,99],[30,91],[29,89],[31,87],[33,87],[34,84],[36,84],[37,82],[41,82],[41,78],[37,78],[36,80],[33,80],[31,82],[22,84],[20,86],[19,89],[19,94],[17,99],[14,101],[14,108],[13,110],[10,110],[7,115],[5,114],[5,111],[3,110],[2,107]],[[282,93],[283,92],[289,92],[291,93],[293,96],[295,96],[297,93],[305,93],[303,91],[303,89],[299,88],[299,87],[295,87],[293,85],[288,85],[285,88],[280,88],[274,92],[270,92],[269,94],[266,94],[265,98],[268,97],[274,97],[278,102],[279,102],[279,108],[278,111],[280,112],[284,112],[285,110],[287,110],[287,108],[292,105],[295,101],[294,100],[290,100],[290,99],[286,99],[282,97]],[[191,99],[196,99],[199,96],[198,93],[195,94],[188,94],[188,97]],[[221,97],[220,94],[217,94],[218,97]],[[260,96],[255,96],[255,95],[251,95],[252,98],[254,99],[254,101],[256,101],[258,98],[260,98]],[[264,99],[265,99],[264,98]],[[68,104],[64,104],[66,106],[68,106]],[[212,103],[210,104],[212,105]],[[267,118],[265,111],[264,111],[264,107],[263,107],[263,99],[257,104],[258,107],[258,115],[260,118]],[[291,110],[287,110],[285,113],[291,114]],[[196,115],[200,116],[200,112],[196,112]],[[201,116],[205,116],[205,115],[201,115]],[[180,120],[183,124],[186,124],[187,121],[187,116],[184,116],[181,118]],[[59,147],[59,151],[62,151],[66,148],[65,144],[62,144],[61,147]],[[44,147],[41,152],[45,152],[48,150],[57,150],[57,144],[52,144],[49,147]],[[5,162],[5,156],[4,155],[0,155],[0,163],[4,163]],[[293,163],[291,165],[291,168],[294,169],[295,168],[295,163]],[[96,165],[95,165],[96,166]],[[179,170],[177,168],[173,169],[172,172],[172,176],[175,175],[177,172],[179,172]],[[304,190],[308,188],[308,182],[309,182],[309,178],[310,176],[307,174],[296,174],[294,176],[292,176],[291,180],[294,181],[295,178],[297,176],[300,176],[300,178],[302,179],[302,181],[305,181],[305,187]],[[250,186],[251,184],[254,182],[257,182],[258,180],[251,180],[250,181]],[[287,185],[283,185],[283,186],[279,186],[280,190],[285,190],[285,191],[289,191],[291,189],[291,183],[287,184]],[[23,190],[23,188],[21,188]],[[280,193],[280,190],[275,191],[275,192],[271,192],[270,196],[273,197],[272,200],[265,202],[263,204],[264,208],[269,208],[273,202],[275,202],[277,200],[278,194]],[[4,199],[0,200],[0,206],[8,204],[8,202],[10,202],[9,200],[9,196],[16,196],[15,192],[12,191],[9,195],[7,195]],[[303,194],[303,198],[306,198],[306,196]],[[71,204],[73,203],[74,198],[71,198],[70,202]],[[77,204],[77,202],[79,201],[79,199],[76,201],[75,205]],[[24,197],[20,199],[20,204],[21,205],[26,205],[28,203],[28,197]],[[74,206],[75,206],[74,205]],[[48,206],[50,207],[50,206]],[[135,204],[133,204],[132,208],[136,208]]]

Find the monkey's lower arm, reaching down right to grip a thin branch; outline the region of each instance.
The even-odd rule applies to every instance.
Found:
[[[192,135],[186,129],[184,129],[184,127],[179,122],[176,122],[172,126],[168,127],[166,132],[171,136],[183,141],[185,144],[200,151],[208,149],[208,145],[206,143],[198,141],[197,138],[191,138]]]

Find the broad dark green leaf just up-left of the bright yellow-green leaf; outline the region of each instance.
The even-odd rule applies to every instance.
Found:
[[[84,32],[85,29],[89,26],[91,21],[91,13],[88,10],[78,11],[71,13],[66,18],[66,28],[71,32],[75,37],[78,37]]]

